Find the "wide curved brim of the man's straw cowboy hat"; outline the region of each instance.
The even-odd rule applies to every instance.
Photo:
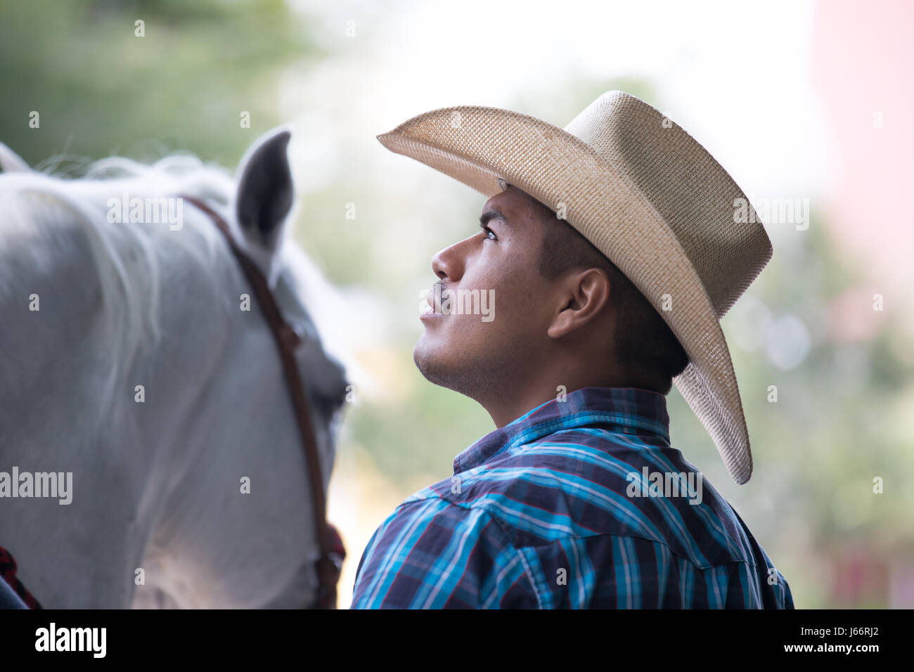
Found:
[[[752,475],[749,431],[714,305],[673,229],[631,180],[588,144],[535,117],[492,107],[425,112],[377,136],[484,195],[499,178],[566,219],[638,287],[689,356],[674,379],[740,485]],[[672,306],[664,310],[664,297]]]

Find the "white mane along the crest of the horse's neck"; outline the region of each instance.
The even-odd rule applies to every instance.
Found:
[[[106,333],[113,336],[111,387],[141,347],[154,345],[161,337],[163,262],[169,261],[164,254],[180,251],[181,256],[196,260],[207,270],[203,275],[213,283],[216,297],[223,296],[228,304],[228,296],[218,291],[221,274],[214,268],[221,234],[209,225],[206,215],[186,203],[181,230],[170,230],[163,223],[109,222],[108,199],[124,193],[130,197],[186,194],[224,209],[234,188],[227,171],[204,165],[191,155],[165,156],[152,165],[119,156],[103,158],[75,179],[50,171],[0,173],[0,306],[4,314],[10,319],[21,309],[11,310],[13,302],[26,305],[28,293],[23,295],[21,290],[27,282],[21,277],[23,272],[52,273],[55,261],[72,255],[73,240],[81,237],[90,251],[90,259],[81,263],[96,273]],[[0,335],[0,346],[3,341]]]

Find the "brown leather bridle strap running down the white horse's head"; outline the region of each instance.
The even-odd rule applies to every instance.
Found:
[[[266,319],[267,325],[270,326],[270,332],[276,342],[276,348],[279,350],[282,373],[289,389],[292,411],[295,415],[295,422],[298,425],[304,459],[308,465],[308,475],[311,480],[312,510],[314,511],[314,529],[316,530],[321,550],[321,556],[315,565],[318,579],[318,597],[312,607],[333,608],[336,603],[336,582],[339,579],[342,561],[339,552],[341,550],[341,542],[335,530],[327,522],[324,507],[324,480],[317,452],[317,441],[314,438],[314,426],[311,423],[311,414],[308,411],[308,398],[304,391],[302,377],[295,363],[294,350],[301,343],[301,339],[295,333],[295,330],[282,318],[282,313],[273,298],[267,279],[254,262],[250,261],[250,257],[239,248],[238,243],[231,235],[231,229],[228,229],[225,219],[222,219],[215,210],[197,197],[182,196],[182,198],[207,213],[210,219],[216,223],[218,229],[222,231],[226,242],[228,242],[228,248],[235,255],[241,271],[244,272],[248,283],[250,283],[254,294],[257,296],[260,312]]]

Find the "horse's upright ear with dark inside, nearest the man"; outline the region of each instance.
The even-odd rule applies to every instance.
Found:
[[[292,209],[294,189],[286,155],[291,137],[285,126],[261,135],[239,164],[235,200],[239,226],[252,244],[268,252],[278,247],[282,222]]]

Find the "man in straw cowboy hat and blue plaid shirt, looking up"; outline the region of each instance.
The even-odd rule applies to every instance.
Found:
[[[622,91],[565,129],[462,107],[379,139],[489,197],[481,230],[432,260],[414,359],[497,429],[377,528],[353,608],[792,608],[736,511],[670,445],[675,381],[749,480],[718,320],[771,242],[723,168]],[[497,299],[488,319],[445,309],[473,290]]]

